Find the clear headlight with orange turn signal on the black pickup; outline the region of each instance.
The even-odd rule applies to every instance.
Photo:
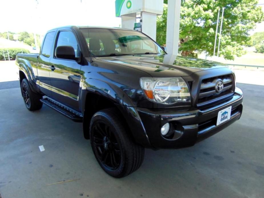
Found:
[[[147,98],[153,102],[174,104],[191,101],[188,86],[181,77],[140,78],[140,86]]]

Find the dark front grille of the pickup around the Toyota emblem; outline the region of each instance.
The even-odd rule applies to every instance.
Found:
[[[216,85],[222,82],[223,88],[218,92]],[[224,76],[215,76],[212,78],[203,79],[197,106],[203,106],[222,100],[231,96],[234,92],[234,80],[232,74]]]

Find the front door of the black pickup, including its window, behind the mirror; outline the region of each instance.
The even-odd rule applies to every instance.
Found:
[[[79,110],[78,93],[80,89],[81,65],[75,60],[67,60],[55,57],[55,49],[58,46],[72,46],[75,56],[80,57],[79,44],[75,34],[70,29],[59,30],[55,41],[51,65],[54,70],[50,72],[52,98],[74,110]]]

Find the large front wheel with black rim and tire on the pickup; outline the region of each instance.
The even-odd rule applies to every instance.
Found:
[[[98,111],[90,122],[90,142],[102,169],[121,178],[136,171],[144,160],[144,148],[129,136],[114,108]]]

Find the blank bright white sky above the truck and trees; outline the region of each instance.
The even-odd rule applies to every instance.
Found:
[[[259,0],[259,4],[264,4],[264,0]],[[121,25],[121,18],[115,17],[115,0],[1,0],[0,19],[0,32],[41,35],[64,25]],[[257,24],[251,34],[260,31],[264,31],[264,22]]]

